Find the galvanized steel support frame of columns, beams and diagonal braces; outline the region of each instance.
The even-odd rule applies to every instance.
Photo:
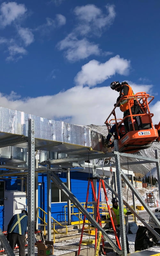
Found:
[[[10,139],[10,140],[3,140],[3,142],[0,142],[0,147],[6,147],[6,146],[13,146],[17,145],[23,142],[28,142],[28,172],[23,172],[24,174],[28,174],[28,255],[34,256],[34,228],[35,228],[35,200],[34,200],[34,190],[35,190],[35,171],[39,170],[39,167],[35,168],[35,132],[34,132],[35,126],[34,126],[34,120],[29,119],[28,120],[28,137],[21,137],[19,139]],[[153,220],[156,222],[158,227],[160,228],[160,222],[157,220],[155,215],[150,211],[148,208],[147,204],[144,202],[144,200],[141,198],[141,196],[137,193],[137,190],[133,187],[132,183],[128,180],[124,172],[121,170],[120,166],[120,156],[125,156],[125,157],[130,157],[130,158],[136,158],[140,159],[143,161],[137,161],[137,162],[132,162],[132,163],[122,163],[123,165],[125,164],[141,164],[141,163],[150,163],[150,162],[155,162],[156,167],[157,167],[157,178],[158,178],[158,186],[159,186],[159,195],[160,195],[160,161],[159,161],[159,155],[158,151],[155,150],[155,158],[148,158],[148,157],[143,157],[143,156],[138,156],[138,155],[132,155],[132,154],[127,154],[127,153],[119,153],[118,151],[118,141],[114,141],[114,150],[111,153],[101,153],[101,154],[95,154],[95,155],[86,155],[84,156],[79,156],[79,157],[70,157],[67,159],[56,159],[52,161],[48,161],[48,166],[47,168],[42,167],[40,171],[45,171],[47,172],[47,180],[48,180],[48,190],[47,190],[47,209],[48,209],[48,238],[50,238],[50,232],[51,232],[51,200],[50,200],[50,195],[51,195],[51,188],[50,188],[50,182],[51,180],[57,185],[58,188],[60,188],[66,196],[68,196],[68,199],[76,205],[76,207],[84,214],[86,215],[87,218],[91,220],[91,223],[97,228],[98,231],[102,232],[102,235],[106,240],[109,242],[109,244],[112,246],[112,248],[120,255],[126,256],[127,255],[127,250],[126,250],[126,240],[125,240],[125,229],[124,229],[124,212],[123,212],[123,203],[129,208],[129,210],[138,218],[141,220],[141,222],[156,236],[156,238],[160,239],[160,235],[154,231],[143,219],[140,218],[140,216],[135,212],[134,209],[132,209],[129,205],[127,205],[127,202],[124,202],[123,200],[123,195],[122,195],[122,184],[121,184],[121,176],[125,180],[126,184],[131,188],[132,192],[137,196],[137,198],[140,200],[141,204],[144,206],[144,208],[147,210],[150,216],[152,216]],[[86,149],[86,148],[85,148]],[[109,158],[109,157],[115,157],[115,163],[116,163],[116,182],[117,182],[117,191],[118,193],[111,188],[107,182],[105,182],[106,186],[112,191],[114,195],[118,197],[119,200],[119,209],[120,209],[120,228],[121,228],[121,243],[122,243],[122,251],[118,248],[118,246],[112,241],[112,239],[106,234],[103,228],[100,227],[100,225],[90,216],[89,212],[82,206],[82,204],[78,201],[78,199],[73,195],[73,193],[68,189],[68,187],[63,184],[63,182],[58,178],[56,175],[56,168],[50,168],[51,164],[62,164],[62,163],[69,163],[72,164],[72,166],[83,166],[81,161],[85,160],[91,160],[91,159],[99,159],[99,158]],[[104,165],[107,166],[107,165]],[[86,167],[86,165],[84,165]],[[93,175],[98,175],[96,174],[96,168],[97,167],[102,167],[102,165],[91,165],[90,166],[93,169]],[[6,166],[5,166],[6,168]],[[11,168],[11,166],[7,167]],[[23,170],[23,167],[16,168],[19,170]],[[24,170],[26,170],[26,166],[24,167]],[[6,173],[6,175],[8,175]],[[11,173],[13,175],[13,173]],[[20,175],[20,172],[19,172]],[[3,174],[4,176],[4,174]],[[5,239],[0,236],[0,240],[2,244],[6,245]],[[7,242],[8,243],[8,242]],[[7,250],[7,249],[6,249]],[[12,256],[14,255],[12,252],[8,250],[8,255]]]

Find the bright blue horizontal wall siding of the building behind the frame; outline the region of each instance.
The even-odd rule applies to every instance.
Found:
[[[63,182],[67,181],[66,173],[58,174],[58,176]],[[76,198],[81,203],[84,203],[86,201],[88,176],[89,176],[88,173],[70,172],[71,192],[74,194],[74,196],[76,196]],[[4,179],[4,180],[5,180],[6,190],[20,190],[20,186],[17,185],[17,181],[19,181],[18,179],[17,180]],[[38,182],[41,183],[41,185],[38,186],[38,206],[41,207],[45,212],[47,212],[47,176],[46,174],[39,174]],[[93,201],[91,186],[89,188],[88,201]],[[51,204],[51,216],[55,220],[61,221],[61,222],[65,221],[65,209],[64,209],[65,205],[67,205],[67,202]],[[67,210],[67,207],[66,207],[66,210]],[[74,211],[76,212],[77,210],[74,209]],[[39,214],[43,218],[43,214],[40,212]],[[77,218],[72,216],[72,220],[77,220]],[[47,218],[46,218],[46,221],[47,221]],[[67,213],[66,213],[66,221],[68,221]],[[38,220],[38,222],[40,223],[40,220]],[[3,223],[4,223],[4,206],[0,206],[0,227],[2,228],[2,230],[3,230]]]

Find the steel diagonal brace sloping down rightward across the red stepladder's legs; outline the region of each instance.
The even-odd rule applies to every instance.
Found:
[[[79,200],[74,196],[74,194],[67,188],[67,186],[60,180],[60,178],[52,172],[51,180],[56,184],[56,186],[61,189],[65,195],[70,199],[70,201],[80,210],[84,215],[86,215],[87,219],[97,228],[98,231],[102,232],[103,237],[108,241],[108,243],[112,246],[112,248],[118,253],[122,254],[122,251],[118,248],[118,246],[112,241],[112,239],[106,234],[104,229],[100,227],[99,223],[90,215],[90,213],[84,208],[84,206],[79,202]]]

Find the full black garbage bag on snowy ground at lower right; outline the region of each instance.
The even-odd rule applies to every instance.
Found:
[[[156,243],[158,243],[158,239],[148,230],[148,228],[138,226],[134,244],[135,251],[148,249],[149,247],[155,246]]]

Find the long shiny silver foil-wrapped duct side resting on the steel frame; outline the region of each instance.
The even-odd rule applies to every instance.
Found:
[[[4,107],[0,107],[0,132],[28,136],[29,119],[34,119],[35,122],[35,138],[66,142],[102,151],[102,135],[89,128]]]

